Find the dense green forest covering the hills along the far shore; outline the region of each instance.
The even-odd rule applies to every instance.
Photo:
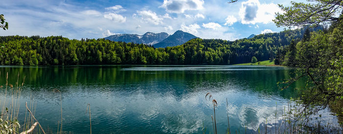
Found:
[[[319,28],[315,28],[317,30]],[[312,28],[313,30],[313,28]],[[144,44],[105,39],[70,40],[62,36],[2,36],[1,65],[88,65],[88,64],[196,64],[247,63],[285,54],[292,39],[302,38],[304,29],[256,35],[251,39],[226,41],[193,39],[183,45],[154,48]]]

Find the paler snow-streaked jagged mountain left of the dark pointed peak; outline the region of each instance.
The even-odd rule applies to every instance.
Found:
[[[105,37],[107,40],[111,41],[122,41],[122,42],[133,42],[138,44],[147,44],[147,45],[154,45],[162,40],[166,39],[169,36],[168,33],[161,32],[161,33],[153,33],[147,32],[143,35],[138,34],[116,34]]]

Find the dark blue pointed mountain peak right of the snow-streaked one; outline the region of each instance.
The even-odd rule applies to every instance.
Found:
[[[155,48],[173,47],[173,46],[184,44],[187,41],[194,38],[198,38],[198,37],[194,36],[193,34],[178,30],[174,34],[168,36],[163,41],[156,43],[154,47]]]

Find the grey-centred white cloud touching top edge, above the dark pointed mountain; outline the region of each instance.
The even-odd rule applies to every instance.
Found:
[[[164,0],[161,7],[167,12],[184,13],[185,10],[200,10],[203,9],[203,0]]]

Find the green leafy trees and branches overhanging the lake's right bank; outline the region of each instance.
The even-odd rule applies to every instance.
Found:
[[[281,9],[275,24],[279,27],[316,27],[325,24],[322,31],[307,29],[301,40],[292,40],[288,50],[276,60],[296,68],[293,78],[282,82],[285,88],[300,78],[309,84],[298,98],[301,106],[298,117],[309,118],[326,107],[342,106],[343,100],[343,0],[315,0],[305,4],[292,2],[292,6]],[[275,61],[276,62],[276,61]],[[342,123],[343,107],[337,112]]]

